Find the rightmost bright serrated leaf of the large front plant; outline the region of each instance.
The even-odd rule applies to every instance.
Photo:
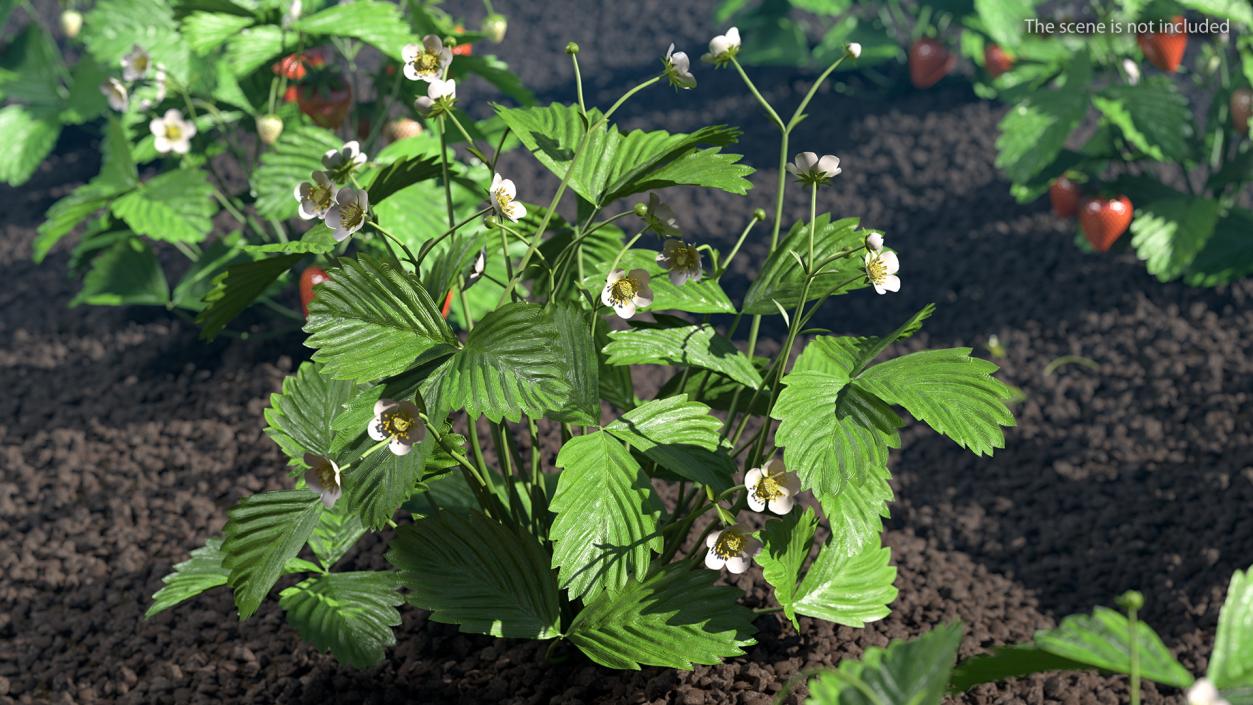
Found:
[[[984,456],[1005,447],[1001,427],[1014,426],[1005,403],[1014,391],[992,377],[996,369],[970,348],[922,351],[870,367],[853,384]]]

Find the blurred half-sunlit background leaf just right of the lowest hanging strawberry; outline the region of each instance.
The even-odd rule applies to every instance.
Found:
[[[1163,282],[1180,277],[1214,234],[1217,200],[1184,195],[1138,205],[1131,247],[1150,274]]]

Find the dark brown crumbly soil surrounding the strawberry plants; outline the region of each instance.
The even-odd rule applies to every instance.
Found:
[[[512,16],[500,54],[524,79],[544,98],[568,96],[560,50],[574,39],[598,104],[654,70],[672,39],[699,55],[714,29],[708,3],[501,5]],[[690,129],[714,115],[746,128],[759,168],[751,198],[672,198],[693,237],[728,243],[768,207],[776,142],[733,75],[698,76],[695,91],[654,89],[623,115],[628,126]],[[786,71],[754,76],[787,109],[806,88]],[[1200,671],[1228,576],[1253,562],[1253,523],[1240,521],[1253,505],[1253,283],[1162,286],[1125,252],[1079,253],[1069,223],[1009,198],[992,168],[1001,110],[960,80],[897,96],[828,90],[793,145],[842,158],[821,208],[885,229],[903,263],[900,296],[846,297],[819,324],[877,333],[933,301],[925,334],[902,349],[980,347],[996,334],[1004,378],[1025,393],[1007,450],[976,460],[910,430],[892,463],[892,615],[865,630],[802,619],[801,634],[764,616],[746,657],[692,672],[610,672],[560,650],[565,660],[548,664],[546,644],[465,636],[416,611],[386,664],[352,671],[303,645],[273,602],[238,624],[224,591],[145,622],[160,576],[221,531],[231,505],[284,485],[261,412],[304,352],[291,336],[205,348],[164,313],[66,308],[66,249],[38,267],[29,253],[48,205],[94,173],[68,135],[31,184],[0,190],[0,702],[764,704],[807,669],[945,621],[966,622],[970,655],[1131,587],[1148,595],[1145,619]],[[524,198],[546,193],[525,155],[502,170]],[[799,214],[806,204],[793,197]],[[739,287],[764,240],[739,259]],[[1064,354],[1096,368],[1045,374]],[[350,561],[378,565],[381,543],[363,541]],[[1123,679],[1094,674],[954,699],[1123,701]],[[1145,701],[1182,697],[1150,685]]]

